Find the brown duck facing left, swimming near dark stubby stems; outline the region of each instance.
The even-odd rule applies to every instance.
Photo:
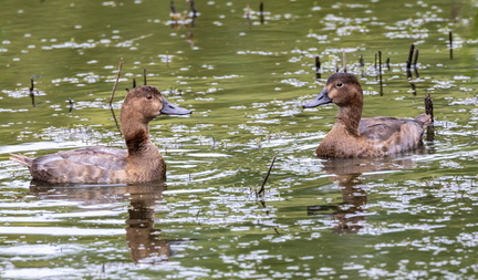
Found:
[[[427,113],[415,118],[362,118],[363,91],[351,73],[332,74],[321,93],[302,107],[331,103],[339,106],[339,114],[332,129],[315,151],[322,158],[386,157],[413,151],[423,147],[425,127],[433,122],[433,114]]]

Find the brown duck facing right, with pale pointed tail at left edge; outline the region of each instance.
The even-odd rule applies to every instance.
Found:
[[[154,86],[131,90],[122,104],[119,122],[127,151],[82,147],[31,158],[12,154],[34,180],[73,184],[166,182],[166,164],[149,138],[148,123],[159,115],[187,115],[191,111],[169,103]]]

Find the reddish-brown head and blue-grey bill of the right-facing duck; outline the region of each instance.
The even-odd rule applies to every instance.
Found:
[[[131,90],[123,102],[122,118],[134,117],[148,123],[158,115],[187,115],[191,111],[169,103],[154,86],[143,85]]]

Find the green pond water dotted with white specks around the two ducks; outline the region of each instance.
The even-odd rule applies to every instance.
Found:
[[[477,1],[174,6],[2,2],[0,278],[477,278]],[[423,151],[315,157],[336,107],[300,105],[344,65],[364,116],[414,117],[432,95]],[[51,186],[9,160],[124,147],[112,113],[145,77],[194,111],[150,123],[167,185]]]

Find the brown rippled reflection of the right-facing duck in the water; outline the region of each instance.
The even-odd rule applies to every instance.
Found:
[[[104,205],[111,209],[113,203],[129,200],[126,220],[126,242],[135,263],[157,263],[174,256],[173,246],[191,241],[162,238],[162,230],[155,229],[155,206],[163,199],[165,183],[138,185],[65,185],[33,180],[32,195],[40,199],[62,199],[83,205]],[[95,208],[97,209],[97,208]]]

